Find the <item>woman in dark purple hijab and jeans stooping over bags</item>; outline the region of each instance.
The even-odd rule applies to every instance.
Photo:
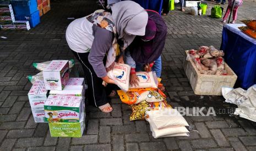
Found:
[[[130,84],[138,85],[136,71],[155,71],[161,77],[161,53],[165,46],[167,26],[161,16],[152,10],[147,10],[149,19],[146,25],[145,36],[137,36],[126,51],[126,63],[130,65]]]

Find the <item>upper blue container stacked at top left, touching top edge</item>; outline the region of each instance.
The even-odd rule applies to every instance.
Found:
[[[37,10],[37,0],[12,0],[15,15],[30,15]]]

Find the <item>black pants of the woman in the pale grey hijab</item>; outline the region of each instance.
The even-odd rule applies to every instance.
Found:
[[[102,85],[103,80],[97,77],[94,69],[90,65],[88,61],[89,53],[77,53],[72,51],[75,57],[77,57],[78,61],[81,63],[85,79],[88,85],[87,89],[87,97],[90,104],[99,107],[109,102],[107,98],[110,95],[112,89],[111,85],[108,84],[106,87]]]

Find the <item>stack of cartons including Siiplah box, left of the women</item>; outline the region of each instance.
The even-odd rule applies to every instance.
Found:
[[[29,102],[36,123],[49,123],[52,137],[81,137],[85,129],[84,78],[69,78],[73,60],[33,63],[40,76],[33,84]]]

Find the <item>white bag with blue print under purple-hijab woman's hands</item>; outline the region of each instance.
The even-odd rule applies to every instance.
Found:
[[[139,78],[139,86],[129,85],[129,89],[135,88],[157,88],[152,72],[136,72]]]

